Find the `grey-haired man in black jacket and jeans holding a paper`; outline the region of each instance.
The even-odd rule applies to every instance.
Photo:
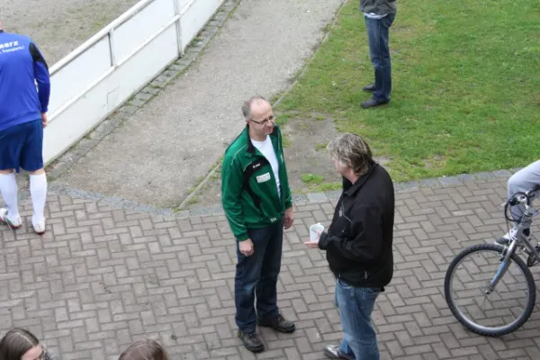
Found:
[[[374,302],[392,280],[394,190],[390,175],[376,164],[360,136],[346,133],[329,144],[343,193],[328,231],[309,247],[327,251],[336,276],[336,303],[344,338],[325,347],[338,359],[379,359],[371,321]]]

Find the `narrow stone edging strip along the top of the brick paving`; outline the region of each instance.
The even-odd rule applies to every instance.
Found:
[[[477,174],[462,174],[455,176],[442,176],[436,178],[422,179],[419,181],[409,181],[403,183],[395,183],[394,189],[396,193],[408,193],[421,188],[445,188],[464,185],[475,181],[486,181],[493,179],[508,179],[509,176],[516,173],[519,168],[510,170],[497,170],[492,172],[483,172]],[[106,196],[101,193],[89,193],[84,190],[70,188],[61,184],[49,185],[49,193],[57,195],[67,195],[76,199],[91,200],[97,202],[98,205],[107,206],[112,209],[143,212],[167,218],[186,219],[195,216],[215,216],[223,215],[223,209],[220,204],[204,207],[194,207],[192,209],[175,211],[173,209],[161,209],[152,205],[131,202],[118,196]],[[310,203],[337,201],[341,191],[329,191],[324,193],[306,193],[293,195],[293,202],[296,206],[307,205]],[[30,193],[24,190],[19,193],[20,200],[26,200],[30,197]]]

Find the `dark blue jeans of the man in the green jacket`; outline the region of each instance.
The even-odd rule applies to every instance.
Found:
[[[279,314],[276,287],[281,268],[284,222],[278,221],[264,229],[248,229],[247,233],[253,241],[255,253],[246,257],[240,253],[237,244],[234,300],[238,329],[250,333],[255,332],[257,317],[269,319]]]

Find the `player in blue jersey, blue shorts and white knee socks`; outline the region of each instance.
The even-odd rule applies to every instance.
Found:
[[[36,91],[35,83],[38,84]],[[30,173],[31,224],[45,232],[47,176],[43,168],[43,128],[49,106],[49,67],[30,38],[4,32],[0,23],[0,221],[19,228],[15,172]]]

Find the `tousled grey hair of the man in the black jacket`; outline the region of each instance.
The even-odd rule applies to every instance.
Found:
[[[373,163],[371,149],[360,135],[346,132],[330,141],[327,148],[334,159],[341,165],[352,168],[356,175],[367,173]]]

